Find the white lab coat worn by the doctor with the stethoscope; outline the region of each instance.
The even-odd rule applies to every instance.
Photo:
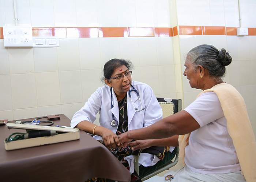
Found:
[[[142,107],[145,107],[143,111],[135,111],[131,102],[134,106],[140,109],[140,102],[136,92],[131,92],[131,99],[127,92],[127,114],[128,114],[128,130],[143,128],[149,126],[158,120],[162,119],[162,109],[155,97],[153,90],[150,86],[145,83],[132,81],[133,87],[138,90]],[[132,87],[131,87],[132,89]],[[71,127],[74,128],[78,123],[83,120],[94,122],[96,114],[99,112],[99,123],[101,126],[108,128],[109,130],[116,133],[118,126],[111,126],[112,113],[114,119],[119,121],[119,109],[116,94],[112,89],[113,95],[113,108],[111,108],[111,94],[108,86],[99,87],[84,104],[84,106],[75,113],[71,120]],[[94,136],[97,140],[102,140],[100,136]],[[134,157],[128,156],[127,159],[130,172],[134,171]],[[151,154],[141,154],[139,163],[143,166],[153,166],[159,161],[159,158]]]

